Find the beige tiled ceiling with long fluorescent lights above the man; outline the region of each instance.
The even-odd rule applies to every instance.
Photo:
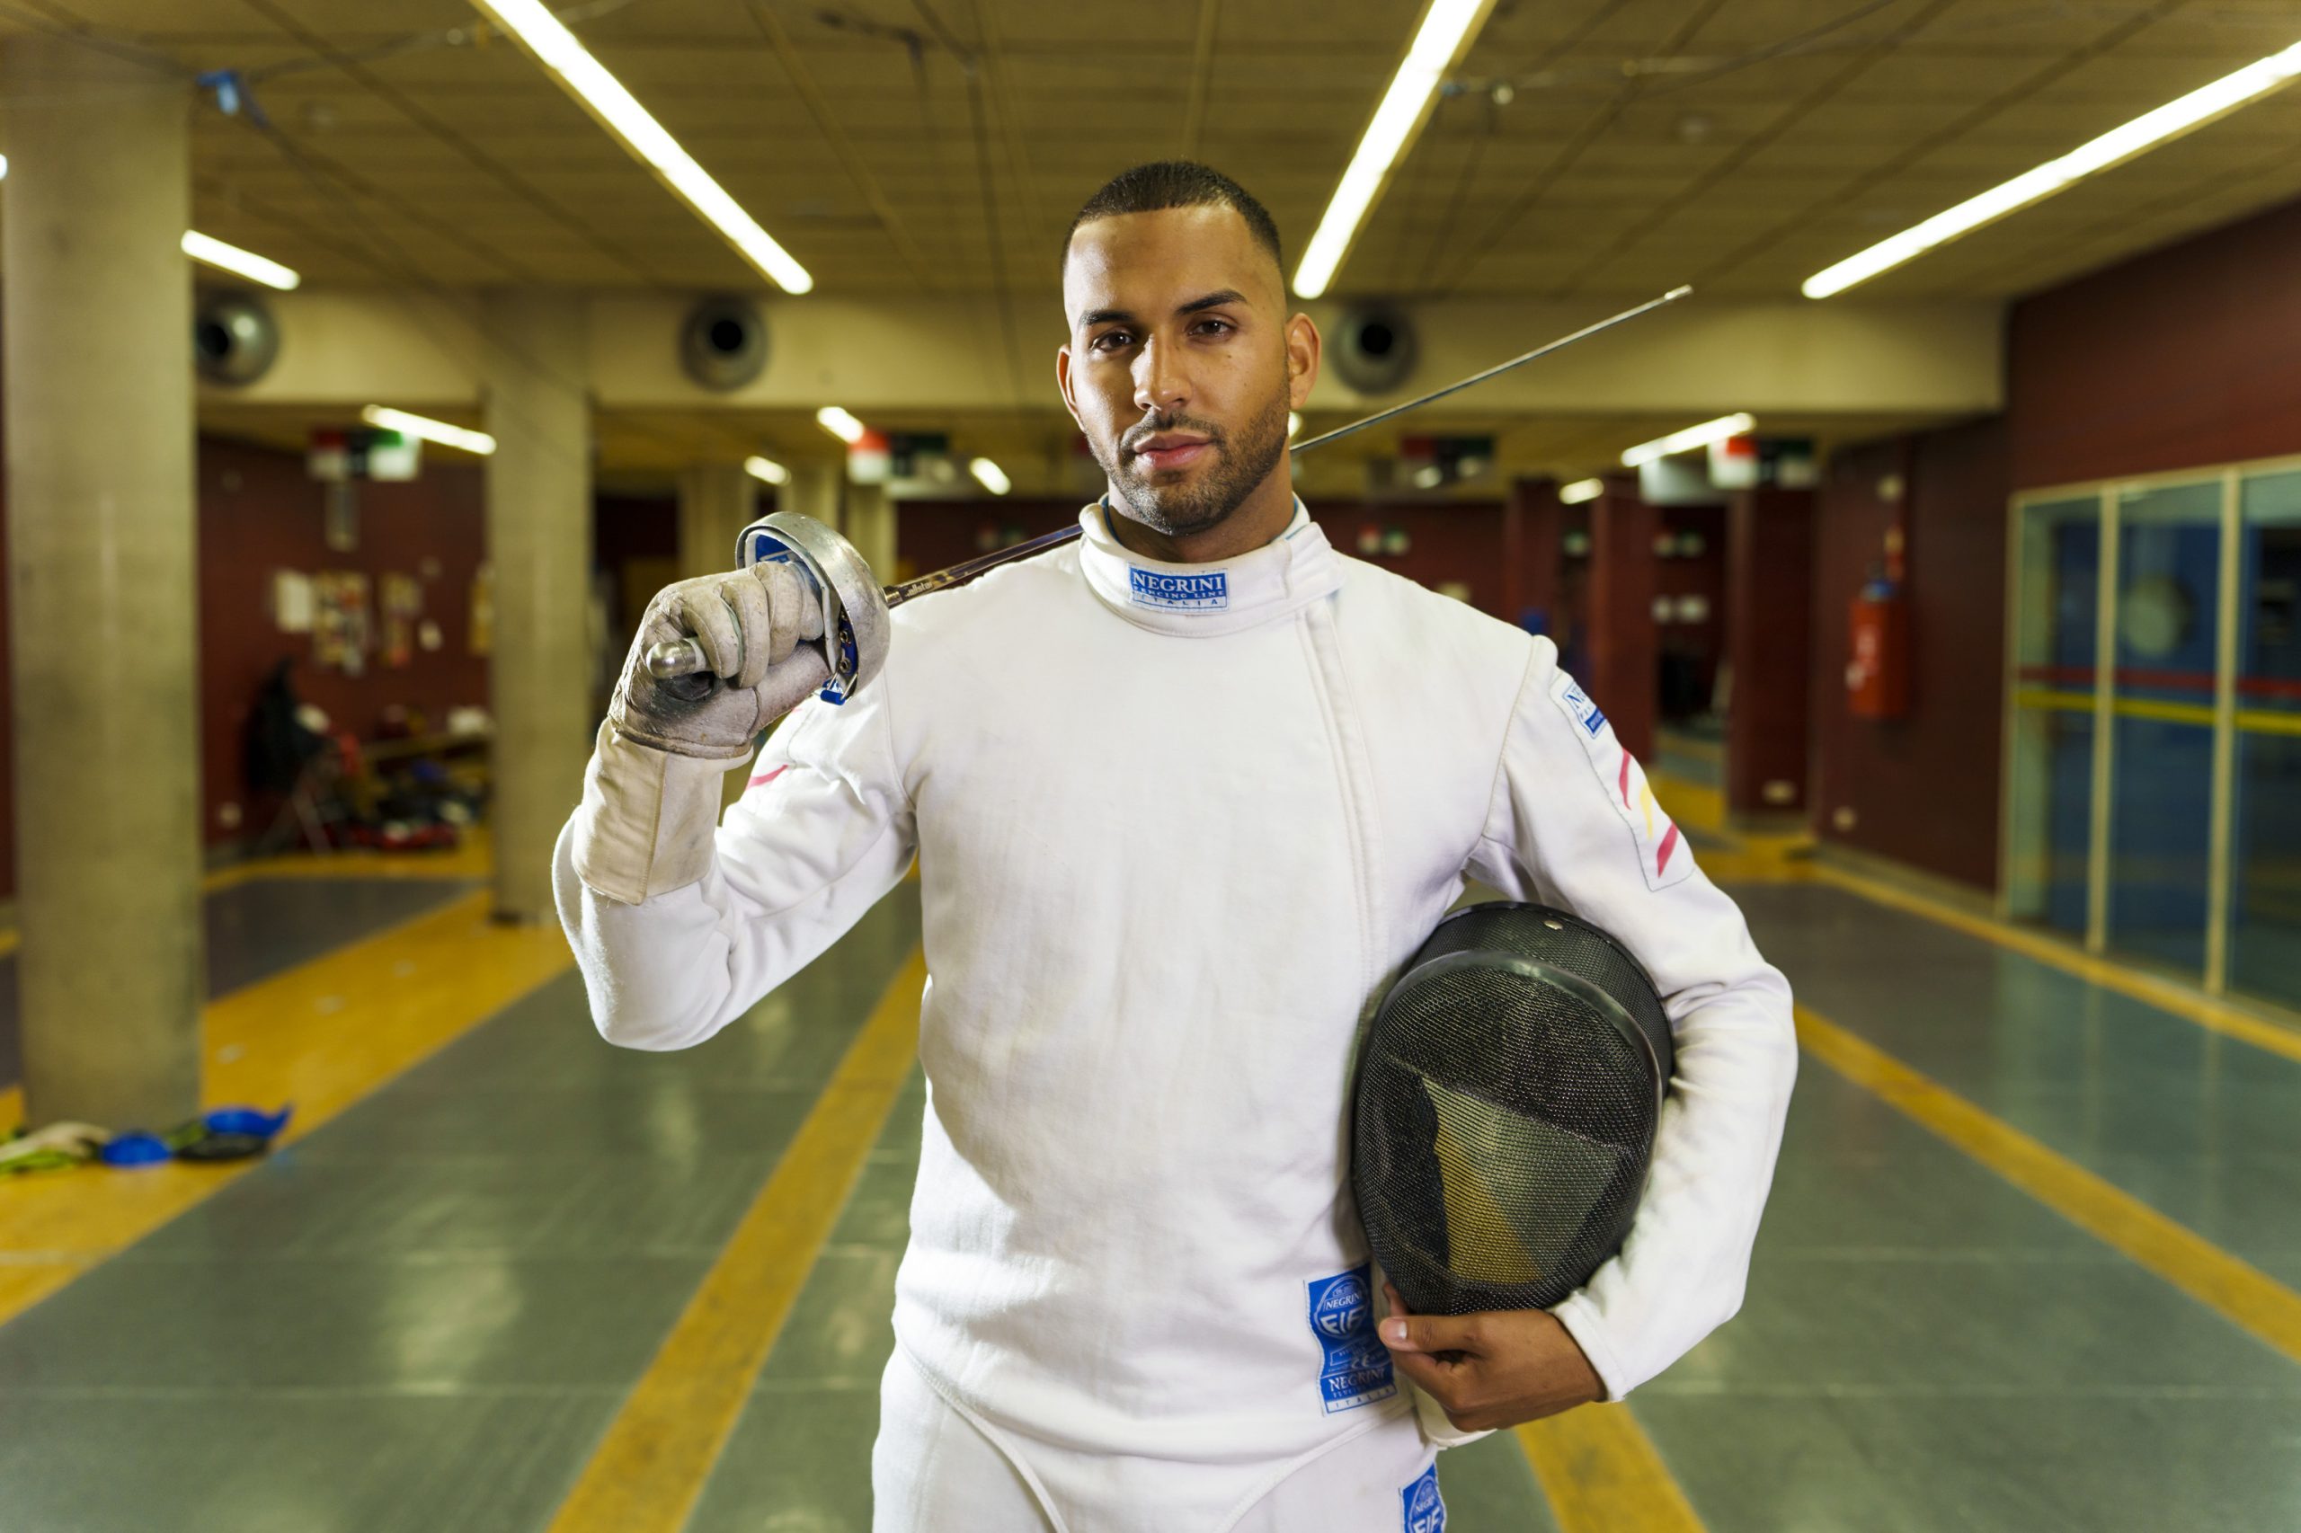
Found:
[[[1070,212],[1139,159],[1226,168],[1300,251],[1415,16],[1397,0],[555,5],[819,292],[1049,304]],[[23,28],[239,71],[260,110],[198,110],[196,223],[308,283],[762,288],[456,0],[0,0],[0,35]],[[1500,0],[1335,295],[1790,297],[2296,39],[2292,0]],[[2301,196],[2296,143],[2289,90],[1859,292],[2036,290]],[[1505,426],[1528,451],[1574,437],[1567,456],[1604,458],[1648,421]],[[603,419],[601,437],[651,465],[697,433],[785,428]]]

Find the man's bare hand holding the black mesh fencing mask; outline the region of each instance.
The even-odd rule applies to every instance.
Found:
[[[1597,1370],[1546,1310],[1413,1314],[1390,1296],[1383,1347],[1463,1432],[1516,1427],[1606,1397]]]

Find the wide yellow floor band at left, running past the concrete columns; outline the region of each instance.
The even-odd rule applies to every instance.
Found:
[[[281,1144],[308,1135],[407,1066],[573,962],[557,925],[488,918],[474,891],[430,914],[212,1001],[209,1105],[295,1103]],[[74,1169],[0,1183],[0,1321],[214,1195],[251,1162]]]

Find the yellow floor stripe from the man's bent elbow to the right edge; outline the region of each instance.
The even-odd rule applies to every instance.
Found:
[[[2301,1363],[2301,1294],[1804,1006],[1797,1040],[1845,1080]]]

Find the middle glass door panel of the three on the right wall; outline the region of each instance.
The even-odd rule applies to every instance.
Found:
[[[2204,971],[2220,479],[2117,502],[2110,946]]]

